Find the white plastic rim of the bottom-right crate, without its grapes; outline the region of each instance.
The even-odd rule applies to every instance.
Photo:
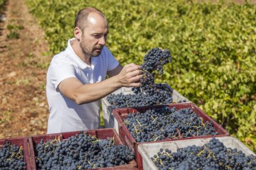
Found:
[[[188,146],[196,145],[196,146],[203,146],[207,144],[211,138],[205,139],[188,139],[188,140],[176,140],[170,142],[159,142],[159,143],[152,143],[152,144],[141,144],[138,147],[138,151],[142,156],[143,160],[143,169],[158,169],[155,166],[155,163],[151,160],[153,155],[156,155],[160,148],[164,150],[168,148],[171,152],[176,152],[177,148],[185,148]],[[247,148],[242,142],[234,137],[216,137],[219,139],[220,142],[226,147],[230,148],[237,148],[237,150],[241,150],[245,153],[245,155],[255,155],[249,148]]]

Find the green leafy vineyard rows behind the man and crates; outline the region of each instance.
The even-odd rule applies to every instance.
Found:
[[[170,49],[173,63],[156,82],[168,83],[255,152],[256,6],[193,1],[26,0],[45,29],[53,54],[73,36],[85,6],[109,21],[107,46],[123,65],[142,63],[153,47]]]

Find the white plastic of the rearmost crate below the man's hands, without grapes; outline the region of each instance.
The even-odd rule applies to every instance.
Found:
[[[183,95],[179,94],[179,92],[177,92],[176,90],[174,90],[172,87],[168,86],[168,84],[166,83],[161,83],[163,84],[163,86],[167,87],[169,89],[169,91],[171,92],[171,95],[173,97],[173,102],[177,103],[179,100],[186,100],[186,103],[190,103],[190,101],[184,97]],[[132,87],[122,87],[120,89],[117,89],[116,91],[114,91],[112,94],[134,94],[134,92],[132,91]],[[166,103],[167,104],[167,103]],[[117,122],[114,119],[113,116],[113,108],[111,107],[111,105],[109,104],[107,98],[103,98],[101,100],[101,105],[102,105],[102,110],[103,110],[103,119],[104,119],[104,124],[106,128],[114,128],[116,129],[117,133],[119,133],[118,131],[118,127],[117,127]]]

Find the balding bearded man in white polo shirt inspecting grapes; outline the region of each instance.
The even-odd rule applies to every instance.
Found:
[[[98,128],[100,99],[120,87],[140,86],[140,66],[122,67],[105,47],[108,20],[100,10],[80,10],[74,36],[48,68],[48,134]]]

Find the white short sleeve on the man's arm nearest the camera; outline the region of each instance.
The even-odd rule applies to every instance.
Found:
[[[69,63],[54,63],[48,70],[49,81],[58,89],[59,83],[66,78],[75,76],[75,67]]]

